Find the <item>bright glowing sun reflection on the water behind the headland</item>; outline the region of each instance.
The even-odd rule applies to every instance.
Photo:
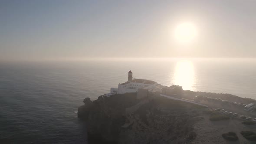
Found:
[[[191,61],[177,62],[174,73],[174,84],[181,85],[184,90],[193,90],[194,65]]]

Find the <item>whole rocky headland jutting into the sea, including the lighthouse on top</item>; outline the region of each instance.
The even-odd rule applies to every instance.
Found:
[[[234,101],[237,101],[236,104]],[[233,102],[233,103],[231,103]],[[238,103],[240,103],[238,105]],[[213,122],[215,109],[221,108],[253,117],[255,112],[243,106],[255,103],[230,94],[184,91],[145,79],[132,79],[111,88],[111,92],[91,101],[84,99],[78,118],[85,121],[90,144],[225,144],[221,134],[229,131],[255,131],[245,127],[243,119],[227,115]],[[248,142],[238,135],[240,142]]]

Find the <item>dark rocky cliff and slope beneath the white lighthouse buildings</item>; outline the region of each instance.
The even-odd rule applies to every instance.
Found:
[[[143,102],[141,102],[143,101]],[[164,97],[136,99],[136,93],[98,97],[78,108],[89,143],[184,144],[194,140],[193,124],[204,107]],[[126,108],[139,107],[133,113]]]

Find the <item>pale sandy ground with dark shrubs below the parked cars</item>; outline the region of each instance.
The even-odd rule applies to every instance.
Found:
[[[240,131],[256,132],[256,125],[241,124],[242,120],[230,118],[230,120],[210,121],[208,115],[194,125],[197,133],[196,139],[192,144],[256,144],[256,141],[248,141]],[[238,141],[227,141],[222,137],[223,133],[233,131],[238,136]]]

